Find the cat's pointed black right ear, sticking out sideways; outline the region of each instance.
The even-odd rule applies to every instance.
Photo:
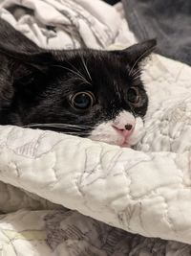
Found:
[[[157,40],[150,39],[117,52],[124,62],[136,66],[142,59],[148,57],[154,51],[156,45]]]

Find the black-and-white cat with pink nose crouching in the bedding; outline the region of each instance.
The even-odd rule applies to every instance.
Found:
[[[135,145],[148,107],[139,64],[155,46],[45,50],[0,19],[0,125]]]

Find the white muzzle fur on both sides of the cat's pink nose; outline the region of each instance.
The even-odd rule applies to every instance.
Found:
[[[144,134],[144,126],[141,118],[136,118],[136,127],[124,142],[123,138],[117,134],[117,131],[112,127],[112,121],[108,121],[98,125],[89,136],[90,139],[99,142],[105,142],[120,147],[132,147],[140,141]]]

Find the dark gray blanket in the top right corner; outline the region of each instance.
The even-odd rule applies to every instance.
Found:
[[[158,38],[160,55],[191,65],[191,1],[122,0],[138,40]]]

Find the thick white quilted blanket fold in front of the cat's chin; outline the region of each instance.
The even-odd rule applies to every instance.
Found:
[[[135,153],[51,131],[6,132],[3,182],[133,233],[191,244],[190,150]]]

